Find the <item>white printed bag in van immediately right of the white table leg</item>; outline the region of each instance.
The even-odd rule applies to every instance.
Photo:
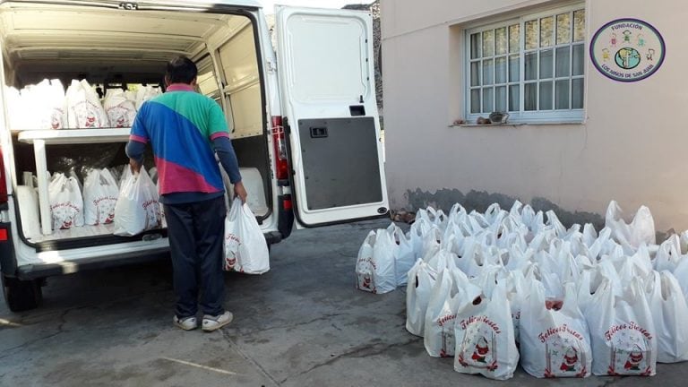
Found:
[[[83,226],[83,198],[74,177],[62,173],[53,175],[47,185],[53,229]]]

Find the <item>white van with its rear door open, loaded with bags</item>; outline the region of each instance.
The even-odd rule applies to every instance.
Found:
[[[200,92],[233,128],[269,244],[295,226],[388,211],[370,14],[278,7],[275,17],[277,53],[253,0],[0,1],[0,269],[11,310],[39,305],[48,276],[156,259],[168,240],[164,228],[131,237],[52,229],[47,171],[124,164],[129,128],[18,130],[13,115],[27,112],[8,107],[10,87],[159,84],[170,58],[189,56]],[[36,176],[37,188],[24,176]],[[38,205],[22,192],[37,192]]]

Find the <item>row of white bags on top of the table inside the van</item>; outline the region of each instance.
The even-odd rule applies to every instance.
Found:
[[[73,80],[67,90],[60,80],[43,80],[22,90],[6,88],[10,127],[14,131],[129,127],[142,103],[161,93],[153,86],[136,92],[108,89],[103,101],[86,80]]]

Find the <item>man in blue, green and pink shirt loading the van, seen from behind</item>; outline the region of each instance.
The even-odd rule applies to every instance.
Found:
[[[126,154],[133,171],[141,168],[147,143],[155,156],[174,271],[177,300],[173,322],[185,331],[198,327],[200,291],[202,330],[215,331],[233,318],[222,305],[227,209],[215,154],[243,202],[246,191],[222,109],[194,91],[197,73],[196,65],[185,56],[168,63],[167,90],[142,105]]]

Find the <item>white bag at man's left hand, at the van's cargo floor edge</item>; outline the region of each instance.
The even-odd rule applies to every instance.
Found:
[[[145,168],[126,174],[115,205],[115,231],[118,236],[134,236],[159,228],[158,190]]]

